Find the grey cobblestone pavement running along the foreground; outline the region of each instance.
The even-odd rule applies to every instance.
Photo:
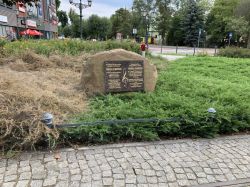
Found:
[[[23,153],[0,186],[192,186],[250,178],[250,135]]]

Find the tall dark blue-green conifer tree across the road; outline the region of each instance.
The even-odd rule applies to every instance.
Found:
[[[182,29],[185,33],[184,43],[188,46],[197,46],[199,30],[204,29],[204,10],[195,0],[189,0],[182,21]]]

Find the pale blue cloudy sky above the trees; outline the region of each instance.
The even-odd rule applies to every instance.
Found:
[[[80,0],[74,0],[78,3]],[[83,3],[87,3],[87,0],[82,0]],[[92,14],[97,14],[101,17],[110,17],[119,8],[131,9],[133,0],[92,0],[92,7],[83,9],[83,18],[88,18]],[[76,10],[79,13],[79,9],[70,5],[69,0],[61,0],[59,10],[69,12],[70,8]]]

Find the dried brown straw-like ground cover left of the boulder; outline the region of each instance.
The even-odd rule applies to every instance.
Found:
[[[87,107],[79,89],[85,56],[49,59],[32,52],[21,58],[0,59],[0,148],[24,149],[58,132],[40,122],[44,112],[55,116],[55,123]]]

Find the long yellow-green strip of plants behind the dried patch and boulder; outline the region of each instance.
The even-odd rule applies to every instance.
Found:
[[[131,41],[21,40],[5,44],[4,50],[6,54],[11,55],[32,50],[37,54],[49,56],[51,54],[79,55],[83,52],[96,53],[117,48],[140,53],[140,46]]]

